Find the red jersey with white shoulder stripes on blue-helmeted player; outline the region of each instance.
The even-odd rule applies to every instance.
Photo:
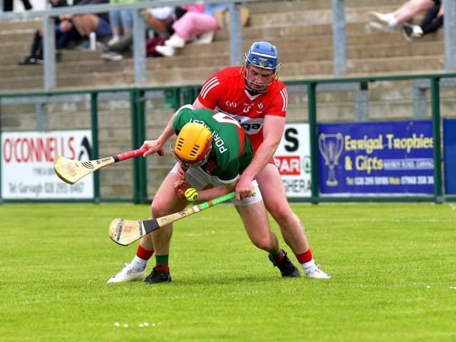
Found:
[[[202,86],[198,100],[204,107],[237,120],[256,151],[263,142],[264,116],[285,117],[288,93],[284,83],[273,79],[264,93],[251,95],[241,70],[241,66],[236,66],[214,73]]]

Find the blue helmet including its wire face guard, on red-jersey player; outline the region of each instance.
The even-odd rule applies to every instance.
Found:
[[[267,86],[271,85],[272,77],[268,84],[259,84],[249,79],[249,66],[256,66],[261,69],[272,71],[274,79],[278,78],[281,63],[277,63],[277,48],[267,41],[256,41],[252,44],[249,52],[244,54],[244,80],[247,90],[252,93],[263,93]],[[255,86],[264,87],[260,90],[252,88],[251,83]]]

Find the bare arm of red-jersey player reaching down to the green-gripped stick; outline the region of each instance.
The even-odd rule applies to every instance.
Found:
[[[252,194],[252,180],[254,180],[259,172],[266,167],[271,157],[276,152],[277,146],[282,138],[285,127],[285,118],[275,115],[266,115],[263,122],[263,142],[259,145],[257,152],[254,154],[252,162],[242,172],[239,182],[236,186],[236,192],[240,198]]]

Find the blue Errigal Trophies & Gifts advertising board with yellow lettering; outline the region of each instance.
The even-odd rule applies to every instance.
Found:
[[[318,125],[321,195],[432,195],[430,120]]]

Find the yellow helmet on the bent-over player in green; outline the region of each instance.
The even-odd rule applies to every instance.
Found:
[[[211,147],[211,132],[200,123],[187,123],[177,135],[174,154],[184,167],[202,165]]]

